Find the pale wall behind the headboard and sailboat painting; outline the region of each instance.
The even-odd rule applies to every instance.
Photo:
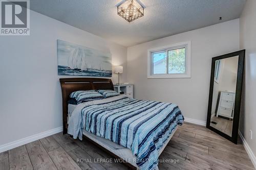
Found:
[[[121,81],[126,81],[126,47],[39,13],[30,14],[30,36],[0,37],[0,148],[62,126],[59,78],[63,76],[57,73],[57,39],[111,52],[112,64],[124,66]]]

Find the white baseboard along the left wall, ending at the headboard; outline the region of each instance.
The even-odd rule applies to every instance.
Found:
[[[0,145],[0,153],[11,150],[16,147],[19,147],[23,144],[27,144],[27,143],[30,143],[32,141],[35,141],[35,140],[38,140],[38,139],[41,139],[41,138],[44,138],[47,136],[51,136],[51,135],[59,133],[59,132],[62,132],[62,127],[58,127],[58,128],[55,128],[55,129],[52,129],[49,131],[41,132],[41,133],[38,133],[38,134],[35,134],[32,136],[25,137],[23,139],[19,139],[19,140],[10,142],[10,143]]]

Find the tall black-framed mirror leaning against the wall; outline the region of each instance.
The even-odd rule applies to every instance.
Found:
[[[237,144],[245,50],[212,58],[206,127]]]

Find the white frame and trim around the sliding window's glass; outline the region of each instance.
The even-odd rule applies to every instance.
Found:
[[[152,66],[152,53],[166,51],[166,55],[168,56],[167,51],[175,50],[178,48],[184,48],[186,51],[185,56],[185,73],[184,74],[152,74],[153,66]],[[168,62],[167,62],[168,63]],[[191,41],[180,42],[172,45],[166,45],[162,47],[152,48],[147,51],[147,78],[148,79],[172,79],[172,78],[191,78]]]

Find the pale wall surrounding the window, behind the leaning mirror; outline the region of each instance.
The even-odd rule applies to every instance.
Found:
[[[147,79],[147,50],[191,41],[191,78]],[[172,102],[185,117],[206,120],[211,58],[239,50],[239,19],[127,48],[127,80],[135,98]]]

